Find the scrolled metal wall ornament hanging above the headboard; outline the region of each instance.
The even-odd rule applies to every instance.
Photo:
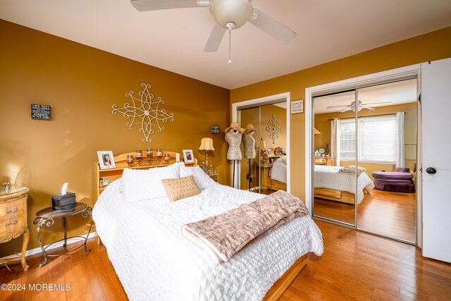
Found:
[[[133,130],[134,125],[141,125],[140,133],[144,134],[144,139],[142,142],[151,142],[152,138],[149,136],[154,134],[154,127],[161,133],[164,127],[160,125],[160,121],[166,123],[169,121],[174,121],[173,113],[166,113],[165,109],[159,109],[160,104],[164,104],[163,99],[158,97],[157,101],[153,101],[154,95],[149,92],[151,85],[141,84],[144,90],[140,91],[140,99],[133,95],[133,91],[125,94],[125,97],[130,97],[132,99],[132,104],[125,103],[122,108],[118,108],[116,104],[113,104],[113,115],[117,112],[123,114],[125,119],[132,118],[130,123],[125,123],[125,125]]]

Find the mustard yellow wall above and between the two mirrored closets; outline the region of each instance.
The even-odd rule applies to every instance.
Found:
[[[290,92],[292,101],[305,98],[305,89],[383,70],[451,57],[451,27],[413,37],[384,47],[348,56],[319,66],[257,82],[230,92],[230,107],[235,102]],[[330,49],[333,51],[333,49]],[[292,193],[305,197],[305,113],[291,116]]]

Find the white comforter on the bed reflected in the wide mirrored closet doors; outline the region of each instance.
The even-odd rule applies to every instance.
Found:
[[[347,191],[355,194],[355,173],[339,173],[340,166],[314,166],[314,187],[329,188],[335,190]],[[371,192],[374,188],[373,181],[366,173],[361,173],[357,178],[359,189],[357,191],[357,204],[364,199],[364,192]]]

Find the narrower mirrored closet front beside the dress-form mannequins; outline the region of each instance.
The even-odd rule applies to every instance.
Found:
[[[287,190],[286,102],[240,109],[240,189],[270,194]]]

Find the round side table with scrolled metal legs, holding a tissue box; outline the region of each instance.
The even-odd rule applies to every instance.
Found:
[[[72,237],[68,238],[67,230],[66,230],[66,217],[73,216],[75,214],[81,214],[82,217],[84,217],[84,218],[87,218],[87,216],[89,216],[91,219],[91,223],[89,225],[89,231],[87,231],[86,237],[85,236],[72,236]],[[88,238],[89,233],[91,232],[91,228],[92,228],[92,208],[88,207],[87,204],[76,203],[75,208],[72,211],[66,211],[66,212],[53,210],[52,207],[47,207],[45,209],[38,211],[36,215],[37,215],[37,218],[35,219],[35,221],[33,221],[34,224],[37,224],[36,238],[37,238],[37,242],[39,242],[39,247],[41,247],[42,254],[44,254],[44,262],[42,262],[42,264],[39,264],[39,267],[42,267],[45,264],[47,264],[48,257],[58,257],[58,256],[61,256],[64,254],[68,254],[70,252],[78,250],[80,247],[83,247],[83,246],[85,246],[86,252],[90,251],[87,248],[86,244],[87,244],[87,238]],[[56,242],[52,242],[50,245],[47,245],[47,247],[43,247],[41,238],[39,237],[41,227],[44,225],[47,227],[50,227],[54,224],[54,219],[61,219],[61,218],[63,218],[64,238],[61,240],[57,240]],[[66,252],[63,252],[60,254],[47,254],[45,252],[45,250],[47,250],[48,247],[51,247],[51,245],[55,245],[56,243],[61,242],[61,241],[64,241],[63,246],[66,247],[68,239],[71,239],[71,238],[82,238],[85,240],[85,242],[82,245],[78,245],[77,247],[74,247],[73,249],[67,250]]]

